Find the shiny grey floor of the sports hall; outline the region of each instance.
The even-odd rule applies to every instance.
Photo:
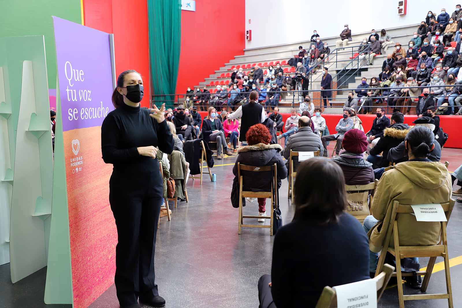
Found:
[[[329,146],[331,153],[333,145]],[[243,228],[237,235],[237,209],[231,207],[230,194],[235,157],[215,160],[213,173],[217,181],[204,175],[203,184],[189,180],[189,203],[172,208],[172,220],[161,218],[156,247],[156,282],[159,293],[166,299],[167,308],[179,307],[258,307],[257,281],[270,273],[273,237],[269,229]],[[442,161],[450,161],[450,171],[462,163],[462,150],[444,149]],[[226,164],[226,165],[222,165]],[[222,165],[222,166],[219,166]],[[292,205],[286,199],[287,181],[280,188],[280,207],[283,223],[292,219]],[[244,213],[256,214],[258,207],[248,205]],[[267,222],[269,223],[269,221]],[[462,255],[462,204],[456,203],[448,225],[450,258]],[[427,258],[421,258],[426,266]],[[437,260],[440,262],[441,260]],[[316,266],[316,265],[314,265]],[[0,307],[43,308],[71,307],[45,305],[46,268],[11,284],[9,265],[0,266]],[[454,307],[462,307],[462,265],[451,267]],[[341,274],[341,273],[339,273]],[[427,293],[445,291],[444,271],[432,274]],[[419,290],[404,287],[404,294]],[[379,308],[399,307],[397,289],[385,291]],[[446,300],[410,301],[406,307],[448,307]],[[91,308],[118,308],[116,290],[112,285]],[[147,306],[146,306],[147,307]]]

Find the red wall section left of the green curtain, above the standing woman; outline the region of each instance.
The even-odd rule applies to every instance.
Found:
[[[114,33],[116,78],[127,70],[140,72],[144,79],[143,107],[149,107],[149,40],[147,2],[126,0],[84,0],[85,26]]]

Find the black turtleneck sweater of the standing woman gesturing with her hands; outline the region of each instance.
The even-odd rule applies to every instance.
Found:
[[[106,116],[101,126],[101,151],[105,163],[114,165],[114,172],[125,178],[159,170],[157,159],[141,156],[137,147],[158,147],[170,154],[173,136],[167,121],[158,123],[149,116],[149,109],[123,104]]]

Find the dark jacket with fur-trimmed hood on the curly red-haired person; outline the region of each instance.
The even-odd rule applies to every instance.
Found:
[[[278,173],[278,188],[281,186],[281,180],[287,177],[287,168],[280,154],[282,147],[279,144],[240,146],[237,150],[237,159],[232,173],[237,176],[237,163],[250,166],[272,166],[276,163]],[[268,191],[271,187],[272,174],[269,172],[241,172],[243,176],[243,189],[247,191]]]

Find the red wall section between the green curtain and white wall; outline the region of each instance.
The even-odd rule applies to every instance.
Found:
[[[181,12],[176,93],[199,85],[245,48],[245,0],[197,0],[195,12]]]

